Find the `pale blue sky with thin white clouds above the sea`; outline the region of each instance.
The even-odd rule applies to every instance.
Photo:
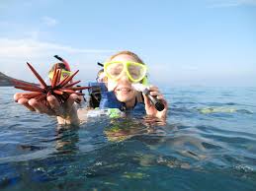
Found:
[[[0,0],[0,72],[37,82],[53,55],[83,84],[121,50],[164,86],[256,86],[256,0]]]

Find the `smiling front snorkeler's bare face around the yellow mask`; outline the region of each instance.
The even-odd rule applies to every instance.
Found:
[[[126,54],[118,55],[112,59],[112,61],[137,62],[132,56]],[[136,91],[131,88],[131,82],[128,80],[127,73],[124,71],[117,81],[108,79],[108,90],[114,91],[118,100],[122,102],[128,102],[134,99],[137,94]]]

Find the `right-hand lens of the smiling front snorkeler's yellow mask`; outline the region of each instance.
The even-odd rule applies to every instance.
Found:
[[[132,80],[138,81],[145,77],[146,69],[144,65],[138,63],[128,64],[128,73]]]

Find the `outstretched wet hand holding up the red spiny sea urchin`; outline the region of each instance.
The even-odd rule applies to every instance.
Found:
[[[42,101],[39,101],[35,98],[26,98],[26,94],[27,93],[15,94],[14,100],[24,105],[31,111],[57,116],[58,122],[60,124],[77,124],[79,122],[77,117],[77,109],[74,105],[75,99],[79,98],[79,96],[72,94],[64,103],[61,104],[55,96],[47,96],[47,101],[49,103],[47,106]]]

